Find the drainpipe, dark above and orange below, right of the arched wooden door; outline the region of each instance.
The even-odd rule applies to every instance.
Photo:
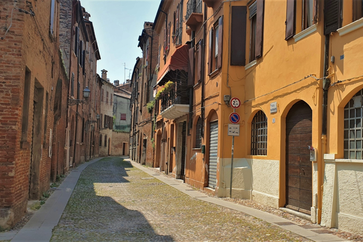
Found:
[[[327,70],[329,68],[329,38],[330,34],[325,35],[325,48],[324,48],[324,73],[323,75],[328,76]],[[318,223],[321,223],[321,213],[323,205],[323,164],[324,164],[324,153],[326,151],[326,131],[327,131],[327,106],[328,106],[328,89],[330,86],[330,78],[323,79],[323,120],[322,120],[322,154],[321,161],[318,162]]]

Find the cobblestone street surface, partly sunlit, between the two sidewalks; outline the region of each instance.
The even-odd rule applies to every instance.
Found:
[[[89,165],[51,241],[309,241],[143,178],[152,177],[121,158]]]

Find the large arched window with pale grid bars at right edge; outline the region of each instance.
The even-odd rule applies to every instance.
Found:
[[[344,107],[344,159],[362,160],[362,94],[363,89]]]

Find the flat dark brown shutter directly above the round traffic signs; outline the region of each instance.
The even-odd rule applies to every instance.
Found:
[[[246,6],[232,6],[231,13],[231,65],[246,64]]]

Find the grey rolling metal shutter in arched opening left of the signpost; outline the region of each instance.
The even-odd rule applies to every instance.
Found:
[[[215,189],[217,185],[217,151],[218,151],[218,121],[210,123],[209,131],[209,166],[208,187]]]

